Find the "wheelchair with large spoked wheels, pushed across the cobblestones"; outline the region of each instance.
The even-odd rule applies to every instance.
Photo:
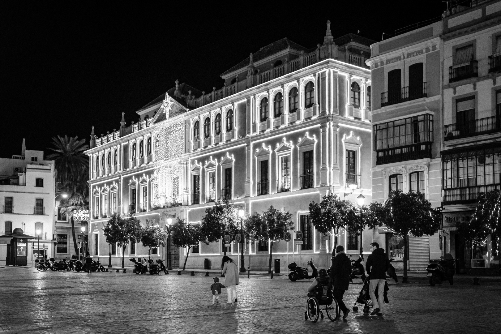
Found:
[[[318,285],[314,291],[308,293],[308,297],[306,301],[305,320],[310,319],[312,322],[317,322],[319,315],[323,319],[324,313],[320,310],[320,305],[325,305],[325,312],[331,321],[339,317],[341,309],[336,299],[332,297],[330,286]],[[334,305],[332,305],[333,301]]]

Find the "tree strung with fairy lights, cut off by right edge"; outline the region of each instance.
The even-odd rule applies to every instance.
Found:
[[[478,196],[475,212],[469,222],[458,222],[457,232],[464,238],[470,250],[485,244],[489,235],[497,240],[501,232],[501,191],[493,190]],[[469,252],[470,259],[472,251]]]

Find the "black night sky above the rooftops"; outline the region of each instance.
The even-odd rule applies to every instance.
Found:
[[[56,135],[88,142],[91,125],[96,134],[118,129],[122,111],[129,125],[176,79],[219,89],[219,74],[281,38],[306,48],[323,43],[327,20],[334,38],[360,30],[381,41],[383,32],[440,16],[444,6],[215,3],[1,2],[0,157],[21,154],[23,138],[35,150]]]

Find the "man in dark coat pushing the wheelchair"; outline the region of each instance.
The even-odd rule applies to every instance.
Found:
[[[332,258],[331,272],[329,273],[334,280],[334,288],[332,291],[333,297],[339,304],[339,308],[343,311],[343,319],[346,319],[350,310],[343,302],[344,291],[348,290],[351,274],[351,261],[344,252],[344,247],[339,245],[336,247],[336,255]]]

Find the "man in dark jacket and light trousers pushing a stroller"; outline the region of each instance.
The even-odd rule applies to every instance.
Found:
[[[383,315],[382,306],[384,285],[386,283],[386,271],[390,266],[390,261],[388,260],[388,256],[386,256],[384,249],[379,248],[379,244],[377,242],[371,243],[370,249],[372,254],[367,257],[365,268],[371,279],[369,284],[369,295],[371,296],[372,304],[374,305],[374,310],[371,315]],[[378,289],[378,298],[376,298],[374,293],[376,288]]]

